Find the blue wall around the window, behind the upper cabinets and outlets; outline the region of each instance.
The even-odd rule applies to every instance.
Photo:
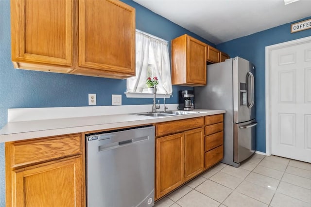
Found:
[[[136,8],[136,28],[169,41],[185,33],[215,46],[198,35],[174,24],[132,0]],[[9,108],[88,106],[88,94],[97,94],[97,105],[111,105],[111,94],[121,94],[123,105],[152,104],[150,98],[126,98],[126,80],[69,74],[18,70],[11,62],[10,1],[0,0],[0,128],[7,123]],[[192,87],[173,86],[168,103],[178,103],[178,90]],[[0,207],[5,206],[4,144],[0,143]]]

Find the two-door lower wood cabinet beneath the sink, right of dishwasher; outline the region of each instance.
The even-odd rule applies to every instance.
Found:
[[[204,170],[203,126],[204,117],[155,125],[155,200]],[[172,133],[170,129],[175,134],[162,136]]]

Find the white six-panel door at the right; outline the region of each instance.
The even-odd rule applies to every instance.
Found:
[[[271,154],[311,162],[311,42],[271,52]]]

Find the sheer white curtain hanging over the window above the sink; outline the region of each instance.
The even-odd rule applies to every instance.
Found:
[[[151,62],[155,65],[155,75],[159,80],[157,93],[172,93],[168,43],[139,31],[136,31],[136,77],[126,80],[127,92],[143,91]]]

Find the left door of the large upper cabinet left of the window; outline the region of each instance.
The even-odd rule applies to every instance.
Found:
[[[12,0],[11,29],[12,61],[72,65],[73,0]]]

